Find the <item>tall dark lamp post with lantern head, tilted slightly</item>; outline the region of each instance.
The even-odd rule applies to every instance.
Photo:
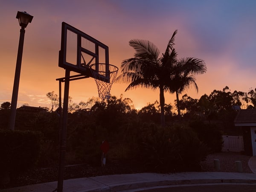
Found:
[[[19,40],[16,69],[15,69],[15,76],[14,76],[14,83],[13,83],[13,90],[12,90],[11,115],[9,119],[9,129],[11,130],[14,130],[14,127],[15,127],[15,117],[16,117],[17,99],[18,99],[18,91],[19,91],[19,83],[20,83],[20,69],[21,69],[21,61],[22,61],[22,53],[23,53],[25,28],[28,25],[28,23],[31,23],[33,16],[29,15],[26,12],[17,12],[16,19],[19,20],[21,29],[20,29],[20,40]]]

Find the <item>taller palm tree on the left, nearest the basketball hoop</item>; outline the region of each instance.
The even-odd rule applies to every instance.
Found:
[[[177,30],[173,33],[172,38],[166,48],[165,54],[159,57],[159,49],[150,41],[134,39],[129,41],[129,45],[135,49],[134,58],[122,61],[122,74],[117,77],[116,81],[128,84],[125,91],[137,87],[159,88],[160,90],[160,109],[161,109],[161,125],[165,125],[164,116],[164,91],[167,90],[166,82],[170,81],[168,73],[171,69],[170,61],[176,59],[176,52],[173,49],[174,39]],[[172,50],[172,52],[170,52]]]

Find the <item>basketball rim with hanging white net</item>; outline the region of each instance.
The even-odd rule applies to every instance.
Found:
[[[110,99],[110,90],[113,81],[116,79],[118,67],[111,64],[92,64],[90,70],[96,81],[99,98],[102,100]]]

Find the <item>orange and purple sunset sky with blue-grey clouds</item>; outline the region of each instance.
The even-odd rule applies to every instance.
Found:
[[[207,73],[195,76],[198,93],[193,87],[183,93],[194,99],[225,86],[231,92],[256,87],[255,0],[0,0],[0,5],[0,103],[12,98],[17,11],[34,16],[25,32],[17,107],[49,108],[46,94],[58,94],[56,79],[65,76],[58,67],[63,21],[107,45],[109,62],[117,67],[134,56],[130,40],[151,41],[162,53],[177,29],[178,58],[200,58],[207,66]],[[159,101],[159,90],[125,92],[126,87],[113,84],[111,95],[130,98],[137,109]],[[71,81],[69,95],[76,103],[98,96],[94,79]],[[165,99],[174,105],[174,95],[165,93]]]

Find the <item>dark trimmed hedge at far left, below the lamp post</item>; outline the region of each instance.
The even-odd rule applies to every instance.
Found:
[[[0,169],[13,175],[35,165],[40,137],[40,132],[0,130]]]

